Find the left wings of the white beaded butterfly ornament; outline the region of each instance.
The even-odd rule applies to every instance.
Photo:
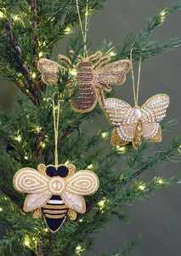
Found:
[[[116,126],[112,131],[110,144],[117,146],[131,142],[133,140],[135,125],[138,121],[133,108],[127,102],[109,98],[105,100],[103,111],[110,125]]]

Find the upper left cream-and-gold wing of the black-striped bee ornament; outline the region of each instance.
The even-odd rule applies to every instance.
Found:
[[[49,178],[35,169],[22,168],[14,175],[14,189],[21,193],[41,194],[48,190]]]

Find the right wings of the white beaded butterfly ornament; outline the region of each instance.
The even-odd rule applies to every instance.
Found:
[[[161,126],[157,123],[166,116],[170,99],[165,94],[152,96],[141,107],[144,137],[151,142],[161,142]]]

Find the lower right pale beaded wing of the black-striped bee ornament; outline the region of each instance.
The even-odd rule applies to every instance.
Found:
[[[86,212],[86,203],[82,195],[75,195],[65,191],[61,194],[61,198],[68,208],[80,213]]]

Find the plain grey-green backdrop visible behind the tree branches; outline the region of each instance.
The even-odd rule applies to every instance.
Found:
[[[102,40],[106,38],[112,45],[125,39],[128,32],[136,34],[144,28],[146,17],[153,17],[156,9],[161,10],[165,0],[108,0],[105,2],[105,9],[97,15],[93,15],[90,21],[88,38],[91,38],[92,49],[99,48]],[[169,5],[174,2],[169,1]],[[167,15],[163,26],[156,29],[154,38],[161,42],[167,38],[181,38],[180,31],[181,12],[174,15]],[[64,39],[54,50],[54,58],[61,53],[65,55],[67,40]],[[175,135],[180,135],[180,109],[181,109],[181,48],[171,51],[165,55],[150,57],[142,63],[141,79],[139,89],[139,106],[150,96],[158,93],[165,93],[170,96],[171,104],[167,109],[167,119],[177,119],[178,124],[172,127],[172,131],[163,136],[163,142],[156,144],[167,146]],[[135,81],[137,80],[138,65],[134,65]],[[13,108],[14,94],[17,90],[12,84],[0,81],[0,102],[9,111]],[[131,72],[127,74],[127,81],[122,86],[116,87],[116,98],[120,98],[133,106],[133,86]],[[108,125],[103,116],[93,125],[92,132],[96,132],[102,124]],[[121,173],[125,165],[120,160],[116,165],[116,172]],[[147,173],[146,180],[152,177],[173,177],[181,172],[181,165],[169,163],[156,171]],[[171,256],[181,255],[181,186],[178,184],[169,189],[162,189],[146,201],[136,201],[132,207],[123,207],[122,211],[133,216],[131,224],[120,224],[118,220],[112,220],[105,229],[100,230],[97,235],[97,244],[93,253],[107,251],[115,252],[117,247],[138,236],[142,231],[145,234],[145,241],[139,249],[133,252],[134,256]],[[3,230],[3,228],[2,228]]]

